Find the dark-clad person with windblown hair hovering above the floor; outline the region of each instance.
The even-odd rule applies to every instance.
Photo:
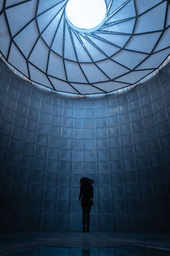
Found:
[[[90,210],[91,206],[93,205],[93,186],[91,186],[94,183],[93,180],[91,180],[88,177],[82,176],[80,179],[79,184],[80,185],[80,194],[79,194],[79,203],[82,206],[82,225],[83,230],[82,232],[89,232],[89,225],[90,225]],[[82,197],[82,200],[81,200]]]

